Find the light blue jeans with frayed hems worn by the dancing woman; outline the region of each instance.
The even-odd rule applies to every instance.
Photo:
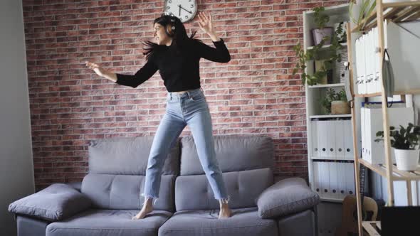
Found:
[[[145,192],[141,195],[145,197],[145,200],[154,198],[154,203],[159,198],[164,161],[179,134],[187,125],[191,129],[197,154],[213,190],[214,198],[221,200],[222,203],[228,203],[230,197],[216,159],[216,151],[214,151],[209,105],[201,88],[182,94],[168,92],[166,112],[154,135],[147,163]]]

